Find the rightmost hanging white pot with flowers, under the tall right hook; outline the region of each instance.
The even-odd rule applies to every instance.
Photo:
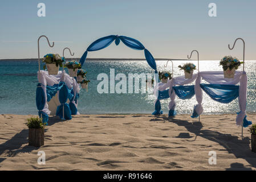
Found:
[[[222,65],[223,71],[224,71],[224,77],[225,78],[234,78],[235,70],[238,69],[238,67],[243,62],[239,61],[236,57],[232,56],[225,56],[221,59],[220,65]]]

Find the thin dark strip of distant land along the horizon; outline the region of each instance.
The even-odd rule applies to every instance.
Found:
[[[66,58],[66,60],[80,60],[80,58]],[[146,59],[135,59],[135,58],[87,58],[87,61],[145,61]],[[188,60],[188,59],[169,59],[169,58],[156,58],[157,61],[166,61],[166,60]],[[193,61],[193,59],[190,59]],[[38,61],[37,58],[28,58],[28,59],[0,59],[0,61]]]

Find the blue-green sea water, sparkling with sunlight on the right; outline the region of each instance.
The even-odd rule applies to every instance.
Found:
[[[183,75],[178,65],[188,61],[173,61],[174,77]],[[192,61],[197,65],[197,61]],[[168,67],[166,61],[156,61],[159,71],[171,71],[171,63]],[[42,65],[41,65],[42,66]],[[42,67],[41,67],[42,68]],[[152,113],[155,110],[155,97],[145,93],[127,94],[99,94],[97,92],[97,75],[106,73],[109,69],[115,69],[115,74],[124,73],[153,73],[146,61],[87,61],[83,68],[88,72],[91,82],[88,92],[82,89],[80,92],[78,110],[81,114],[105,114],[105,113]],[[200,71],[221,71],[219,61],[200,61]],[[239,68],[242,70],[242,67]],[[245,71],[248,76],[247,88],[247,112],[256,111],[256,64],[255,61],[246,61]],[[37,61],[0,61],[0,114],[37,114],[35,105],[35,91],[37,84]],[[128,82],[128,81],[127,81]],[[127,87],[128,88],[128,87]],[[204,92],[203,92],[204,93]],[[205,114],[236,113],[239,111],[238,99],[230,104],[220,104],[210,99],[204,93],[202,105]],[[168,113],[168,100],[162,100],[161,106],[164,113]],[[193,112],[193,106],[197,104],[196,98],[180,100],[176,97],[176,110],[178,114]]]

